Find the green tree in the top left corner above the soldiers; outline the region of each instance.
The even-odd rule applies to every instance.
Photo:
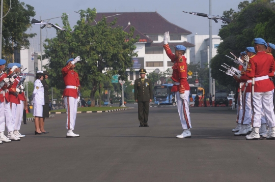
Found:
[[[3,56],[14,53],[14,50],[28,48],[29,39],[36,34],[26,34],[28,28],[31,27],[31,17],[35,16],[34,7],[19,2],[19,0],[11,0],[12,8],[6,17],[3,18]],[[3,15],[5,15],[10,7],[10,1],[4,1]]]

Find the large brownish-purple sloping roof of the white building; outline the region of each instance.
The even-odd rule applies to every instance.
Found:
[[[170,34],[192,34],[190,31],[167,21],[157,12],[97,13],[95,20],[100,21],[103,16],[113,16],[108,17],[107,22],[113,21],[116,17],[117,24],[115,26],[120,25],[123,29],[125,29],[130,22],[131,25],[139,29],[139,32],[142,34],[164,34],[165,32],[169,32]],[[95,23],[93,22],[93,24]]]

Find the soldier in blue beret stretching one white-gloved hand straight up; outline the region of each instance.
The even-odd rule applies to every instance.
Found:
[[[178,135],[177,138],[190,138],[191,120],[188,107],[190,87],[187,81],[187,63],[184,56],[186,47],[183,45],[175,46],[175,54],[173,54],[168,45],[168,38],[169,32],[164,34],[163,47],[166,51],[166,54],[171,59],[171,62],[174,63],[172,67],[172,79],[174,81],[174,85],[171,91],[175,92],[177,97],[178,112],[183,129],[182,134]]]

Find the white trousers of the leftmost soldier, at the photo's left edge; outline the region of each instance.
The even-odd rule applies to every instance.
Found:
[[[6,101],[6,99],[4,102],[0,101],[0,132],[5,131],[5,125],[7,127],[7,131],[12,132],[14,129],[11,114],[11,106],[10,103]]]

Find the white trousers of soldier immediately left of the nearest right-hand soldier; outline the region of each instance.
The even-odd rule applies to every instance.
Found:
[[[243,93],[242,95],[242,113],[239,115],[238,123],[242,125],[249,125],[251,123],[251,93]]]

